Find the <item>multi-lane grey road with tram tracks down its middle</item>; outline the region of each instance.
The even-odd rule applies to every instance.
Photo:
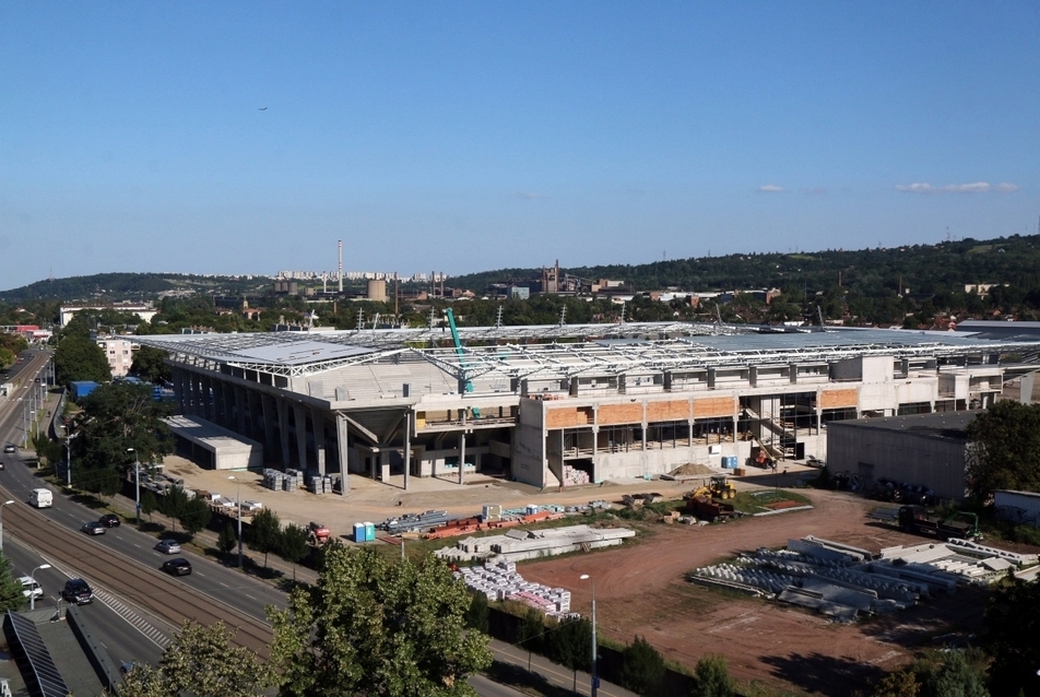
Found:
[[[23,442],[24,407],[29,390],[37,389],[51,356],[26,352],[4,381],[13,391],[0,400],[0,442]],[[54,407],[54,402],[50,407]],[[32,465],[28,453],[0,454],[0,503],[12,500],[0,511],[4,556],[13,563],[16,576],[35,578],[44,589],[37,606],[60,605],[59,593],[69,578],[83,578],[94,590],[95,601],[84,612],[102,637],[109,657],[117,663],[156,664],[176,629],[187,619],[210,625],[223,621],[237,630],[235,643],[265,654],[271,627],[264,609],[285,606],[285,594],[277,589],[227,568],[209,558],[185,553],[192,574],[174,578],[159,570],[166,555],[154,550],[155,537],[120,525],[102,535],[87,535],[81,525],[107,511],[91,508],[55,492],[54,507],[29,506],[34,488],[51,488]],[[75,463],[72,463],[73,469]],[[485,697],[519,695],[516,690],[474,676],[473,686]]]

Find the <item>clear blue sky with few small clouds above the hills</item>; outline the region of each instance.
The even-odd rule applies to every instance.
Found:
[[[0,0],[0,290],[1035,235],[1040,3]]]

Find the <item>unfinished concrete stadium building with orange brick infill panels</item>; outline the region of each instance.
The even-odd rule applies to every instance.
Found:
[[[180,411],[263,460],[539,487],[826,457],[828,425],[983,409],[1036,341],[690,323],[141,336]],[[426,346],[426,347],[421,347]],[[1036,368],[1036,366],[1031,366]],[[400,477],[400,479],[399,479]]]

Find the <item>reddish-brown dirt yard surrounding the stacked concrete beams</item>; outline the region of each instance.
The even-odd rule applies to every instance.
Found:
[[[806,492],[803,492],[806,493]],[[642,543],[616,551],[524,564],[531,581],[572,592],[572,607],[591,609],[595,580],[596,624],[622,642],[647,638],[667,658],[693,666],[704,653],[721,653],[733,675],[792,692],[848,695],[909,661],[914,647],[956,625],[971,631],[981,621],[981,593],[958,590],[888,617],[837,625],[790,605],[721,594],[684,580],[686,571],[741,550],[782,546],[816,535],[877,552],[919,544],[864,513],[871,501],[836,492],[808,492],[815,509],[705,528],[665,527]],[[936,646],[942,646],[939,642]]]

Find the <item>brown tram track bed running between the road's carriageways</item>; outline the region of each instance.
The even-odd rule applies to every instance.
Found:
[[[205,595],[184,581],[167,576],[146,562],[132,559],[110,550],[93,537],[64,528],[32,508],[11,506],[4,511],[4,534],[17,537],[40,554],[51,557],[55,566],[86,579],[92,588],[108,591],[156,617],[172,629],[186,619],[202,625],[222,621],[237,629],[233,642],[269,654],[271,626],[229,605]],[[190,577],[189,577],[190,578]]]

